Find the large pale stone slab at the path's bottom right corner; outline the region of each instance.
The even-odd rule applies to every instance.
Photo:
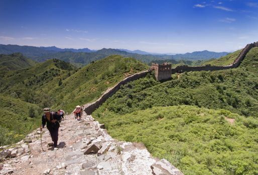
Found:
[[[154,175],[184,175],[178,168],[170,164],[166,159],[161,159],[151,165]]]

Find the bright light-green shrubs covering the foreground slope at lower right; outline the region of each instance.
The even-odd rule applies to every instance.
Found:
[[[230,124],[225,117],[235,121]],[[178,105],[124,115],[104,112],[97,119],[111,136],[142,141],[152,155],[166,158],[184,174],[257,173],[258,122],[252,117]]]

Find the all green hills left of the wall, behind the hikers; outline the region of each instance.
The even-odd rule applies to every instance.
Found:
[[[71,112],[128,74],[147,68],[136,59],[113,55],[80,69],[49,59],[28,68],[0,71],[0,126],[4,130],[0,145],[15,142],[38,127],[42,108]]]

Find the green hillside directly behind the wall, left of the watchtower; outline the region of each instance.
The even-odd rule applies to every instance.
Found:
[[[134,58],[120,55],[108,56],[84,66],[63,80],[63,84],[50,90],[57,96],[54,107],[71,111],[74,106],[97,99],[105,89],[113,86],[131,73],[147,69],[148,66]]]

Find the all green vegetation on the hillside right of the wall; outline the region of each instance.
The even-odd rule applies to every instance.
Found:
[[[234,69],[173,74],[165,82],[149,74],[122,86],[93,116],[114,138],[143,141],[185,174],[255,174],[257,64],[254,47]]]

